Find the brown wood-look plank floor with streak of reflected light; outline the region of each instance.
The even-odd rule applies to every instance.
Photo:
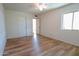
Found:
[[[44,36],[8,39],[4,56],[78,56],[79,47]]]

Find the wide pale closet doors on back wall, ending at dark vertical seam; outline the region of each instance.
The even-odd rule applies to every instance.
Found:
[[[26,36],[26,15],[19,11],[6,10],[7,38]]]

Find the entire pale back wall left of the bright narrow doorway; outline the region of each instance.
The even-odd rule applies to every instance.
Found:
[[[7,38],[32,35],[32,15],[13,10],[5,10]]]

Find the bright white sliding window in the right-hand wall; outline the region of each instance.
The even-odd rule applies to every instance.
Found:
[[[79,12],[72,12],[63,15],[63,29],[79,30]]]

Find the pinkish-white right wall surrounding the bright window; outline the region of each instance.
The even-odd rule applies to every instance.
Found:
[[[79,11],[79,4],[71,4],[40,15],[40,34],[79,46],[79,31],[61,30],[62,15]]]

